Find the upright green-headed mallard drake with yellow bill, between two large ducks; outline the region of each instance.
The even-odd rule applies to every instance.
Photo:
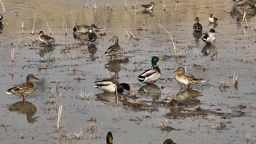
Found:
[[[160,68],[157,66],[157,62],[163,63],[157,56],[153,56],[151,60],[152,69],[146,70],[138,76],[138,80],[145,84],[153,84],[161,77]]]

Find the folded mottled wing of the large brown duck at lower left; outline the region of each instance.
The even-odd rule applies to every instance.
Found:
[[[34,85],[29,83],[20,84],[6,91],[6,94],[15,94],[17,96],[26,96],[30,91],[34,90]]]

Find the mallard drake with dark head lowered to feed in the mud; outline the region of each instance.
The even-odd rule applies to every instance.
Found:
[[[111,92],[115,93],[116,89],[118,93],[124,92],[124,90],[129,91],[129,95],[132,94],[132,90],[130,89],[129,84],[126,83],[119,83],[115,79],[106,79],[106,80],[100,80],[100,81],[95,81],[96,85],[94,87],[104,90],[105,92]]]

